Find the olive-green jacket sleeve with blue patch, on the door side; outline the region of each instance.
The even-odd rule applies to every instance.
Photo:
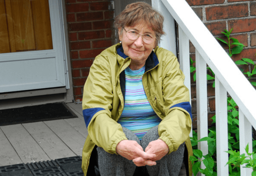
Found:
[[[111,118],[112,82],[107,58],[97,56],[84,85],[83,115],[92,141],[109,153],[116,153],[116,145],[127,139],[122,127]]]

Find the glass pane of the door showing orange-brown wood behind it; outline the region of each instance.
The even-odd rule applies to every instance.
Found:
[[[0,1],[0,53],[53,49],[48,0]]]

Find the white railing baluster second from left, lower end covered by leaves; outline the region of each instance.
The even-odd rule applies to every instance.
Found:
[[[196,103],[197,103],[197,137],[198,140],[208,136],[208,114],[207,114],[207,79],[206,62],[196,50]],[[198,149],[203,155],[208,154],[207,141],[198,143]],[[202,164],[202,168],[205,166]],[[203,174],[202,174],[203,175]]]

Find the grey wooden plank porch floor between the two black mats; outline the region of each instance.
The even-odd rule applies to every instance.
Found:
[[[82,156],[88,135],[82,105],[67,105],[78,118],[0,126],[0,166]]]

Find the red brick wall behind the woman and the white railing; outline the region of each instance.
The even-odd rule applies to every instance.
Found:
[[[210,32],[223,38],[224,29],[233,29],[232,37],[246,47],[234,60],[250,58],[256,60],[256,1],[245,0],[186,0]],[[83,85],[93,59],[111,46],[114,36],[113,4],[110,0],[65,0],[68,37],[72,66],[74,100],[82,101]],[[200,30],[200,29],[198,29]],[[223,45],[222,45],[223,46]],[[227,47],[224,47],[227,49]],[[190,47],[195,59],[195,49]],[[249,70],[250,68],[244,68]],[[193,80],[193,78],[191,79]],[[208,116],[215,114],[215,92],[208,83]],[[196,127],[196,87],[191,83],[193,126]],[[210,125],[211,121],[209,121]]]

